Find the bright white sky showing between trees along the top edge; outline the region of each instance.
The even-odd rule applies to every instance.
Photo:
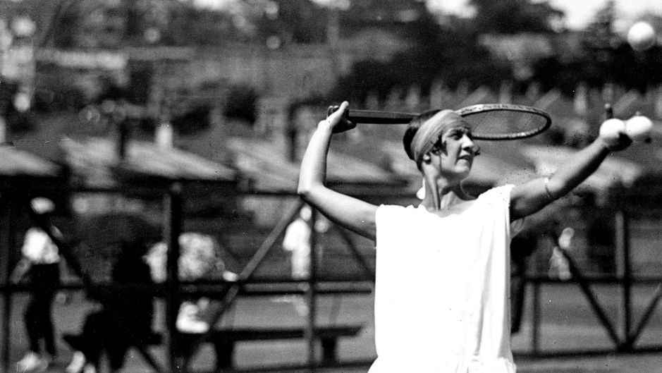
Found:
[[[212,8],[222,8],[238,0],[194,0],[201,6]],[[348,0],[313,0],[320,4],[330,4],[333,2],[346,3]],[[535,0],[534,0],[535,1]],[[586,26],[596,14],[603,8],[606,0],[548,0],[549,3],[562,11],[565,11],[566,25],[571,29],[578,29]],[[428,5],[433,10],[448,11],[459,15],[466,15],[469,11],[467,0],[427,0]],[[646,11],[656,13],[662,16],[662,0],[616,0],[616,9],[620,23],[616,25],[617,29],[625,30],[626,27],[637,21],[637,17]],[[620,25],[620,27],[619,27]]]

